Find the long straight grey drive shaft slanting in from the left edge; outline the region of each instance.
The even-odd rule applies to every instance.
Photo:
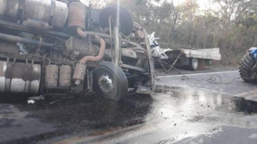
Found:
[[[4,40],[4,41],[8,41],[8,42],[19,42],[19,43],[24,43],[24,44],[32,44],[32,45],[36,45],[36,46],[44,46],[44,47],[50,47],[50,48],[54,47],[53,44],[30,40],[30,39],[26,39],[23,37],[9,35],[9,34],[3,34],[3,33],[0,33],[0,39]]]

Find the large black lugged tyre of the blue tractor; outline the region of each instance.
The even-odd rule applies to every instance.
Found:
[[[254,75],[254,71],[252,70],[253,66],[256,64],[253,57],[249,54],[244,55],[243,59],[240,62],[239,72],[241,78],[246,82],[254,82],[256,83],[257,77]]]

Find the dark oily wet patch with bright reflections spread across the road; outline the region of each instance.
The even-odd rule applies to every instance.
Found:
[[[197,89],[159,87],[158,91],[151,96],[129,96],[122,102],[95,95],[37,106],[2,100],[0,141],[81,142],[89,136],[143,124],[141,128],[118,133],[118,138],[99,139],[96,143],[172,143],[220,132],[224,125],[257,126],[256,102]]]

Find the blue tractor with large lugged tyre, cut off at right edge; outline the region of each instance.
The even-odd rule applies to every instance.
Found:
[[[257,83],[257,47],[252,47],[246,51],[240,62],[240,75],[246,82]]]

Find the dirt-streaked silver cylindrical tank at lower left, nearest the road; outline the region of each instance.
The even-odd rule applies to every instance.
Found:
[[[38,93],[41,65],[0,61],[0,92]]]

